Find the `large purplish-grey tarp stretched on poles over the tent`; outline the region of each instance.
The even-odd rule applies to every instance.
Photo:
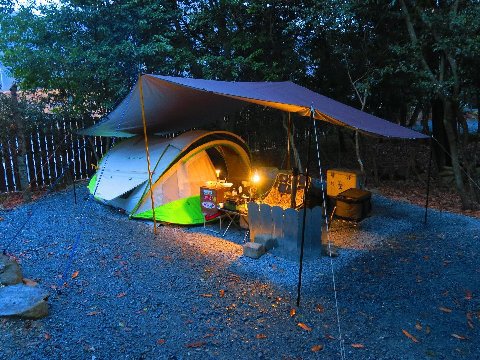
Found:
[[[370,135],[422,139],[426,135],[370,115],[293,82],[228,82],[147,74],[131,93],[84,135],[129,137],[143,131],[140,82],[149,132],[171,133],[215,121],[245,102],[309,116]]]

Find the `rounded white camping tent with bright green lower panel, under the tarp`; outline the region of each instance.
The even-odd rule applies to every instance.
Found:
[[[229,180],[240,182],[250,177],[248,148],[229,132],[197,130],[174,138],[153,135],[149,136],[149,148],[156,220],[203,223],[200,186],[216,179],[212,160],[219,156]],[[148,179],[144,139],[136,136],[105,154],[89,189],[97,199],[124,209],[131,217],[152,219]]]

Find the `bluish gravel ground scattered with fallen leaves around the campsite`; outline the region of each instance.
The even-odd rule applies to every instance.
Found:
[[[1,248],[28,219],[8,251],[51,291],[49,317],[0,320],[1,359],[340,359],[331,263],[346,358],[480,358],[479,220],[431,211],[424,226],[375,195],[371,217],[332,224],[339,257],[305,263],[297,308],[298,265],[244,258],[242,231],[154,236],[86,199],[0,210]]]

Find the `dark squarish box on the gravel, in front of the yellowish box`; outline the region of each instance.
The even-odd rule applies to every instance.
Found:
[[[336,196],[335,216],[360,221],[372,210],[372,193],[361,189],[348,189]]]

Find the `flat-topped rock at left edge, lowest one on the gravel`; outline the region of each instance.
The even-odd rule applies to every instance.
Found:
[[[48,292],[23,284],[0,287],[0,316],[40,319],[48,315]]]

